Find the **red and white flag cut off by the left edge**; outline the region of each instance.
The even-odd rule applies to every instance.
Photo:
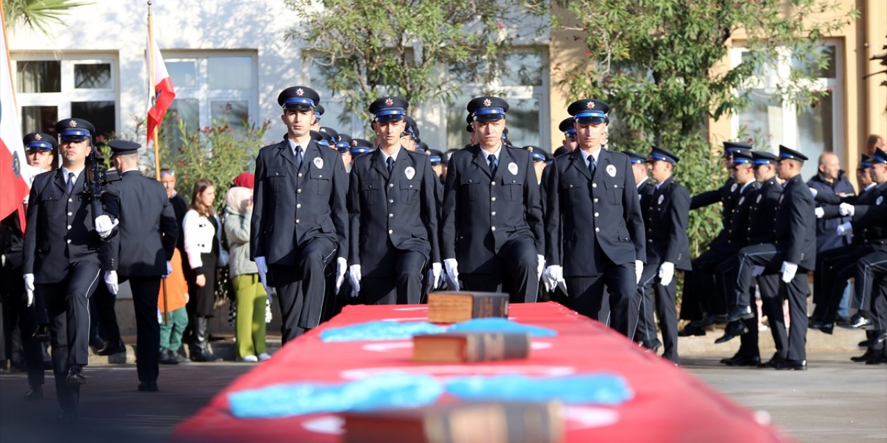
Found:
[[[25,229],[21,202],[27,197],[30,177],[25,148],[21,141],[19,109],[12,90],[12,62],[6,39],[5,19],[0,42],[0,219],[21,209],[21,228]]]

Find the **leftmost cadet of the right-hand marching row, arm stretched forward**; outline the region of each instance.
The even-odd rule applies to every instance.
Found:
[[[724,167],[732,167],[733,153],[739,150],[751,151],[748,144],[724,142]],[[727,237],[730,229],[730,216],[737,197],[739,185],[733,176],[727,178],[718,190],[709,190],[690,199],[690,210],[721,202],[721,230],[718,237],[711,240],[709,249],[693,260],[693,270],[684,274],[684,292],[681,298],[680,318],[689,320],[687,326],[680,330],[680,337],[705,335],[705,327],[715,323],[717,315],[725,315],[726,299],[713,297],[715,293],[715,267],[734,253],[727,248]]]

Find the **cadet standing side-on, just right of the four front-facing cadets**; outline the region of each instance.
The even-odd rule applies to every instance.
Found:
[[[640,312],[640,317],[645,318],[648,326],[645,336],[655,338],[655,306],[663,334],[663,357],[679,363],[678,312],[675,307],[678,284],[674,272],[690,268],[690,242],[687,239],[690,192],[671,176],[679,161],[673,152],[653,146],[648,161],[650,175],[656,184],[652,198],[647,200],[647,265],[638,284],[639,297],[643,299],[640,304],[645,310]]]

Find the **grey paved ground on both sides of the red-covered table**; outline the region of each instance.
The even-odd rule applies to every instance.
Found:
[[[812,355],[807,371],[733,369],[720,357],[685,357],[685,369],[805,442],[887,440],[887,365],[852,363],[852,354]],[[27,378],[0,375],[0,442],[159,441],[222,386],[252,366],[191,363],[161,369],[161,392],[137,392],[134,365],[90,366],[81,419],[61,424],[47,379],[46,398],[26,402]],[[50,374],[47,373],[49,376]]]

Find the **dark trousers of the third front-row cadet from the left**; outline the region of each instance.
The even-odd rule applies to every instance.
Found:
[[[527,237],[508,240],[496,254],[493,274],[459,274],[465,291],[506,292],[511,303],[533,303],[538,297],[536,244]]]

